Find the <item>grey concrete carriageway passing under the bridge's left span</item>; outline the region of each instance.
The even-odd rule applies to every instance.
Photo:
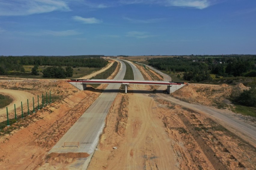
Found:
[[[123,79],[126,71],[125,64],[121,62],[121,68],[114,79]],[[78,121],[68,132],[56,143],[48,154],[54,153],[88,153],[92,154],[98,144],[99,135],[105,126],[105,118],[117,95],[120,84],[110,84],[95,100],[95,102],[84,112]],[[108,90],[117,89],[115,92]],[[106,92],[108,91],[108,92]],[[64,142],[79,142],[79,148],[75,145],[63,147]]]

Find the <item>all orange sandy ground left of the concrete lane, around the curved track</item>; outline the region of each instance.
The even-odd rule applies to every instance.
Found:
[[[119,67],[111,77],[118,70]],[[52,95],[58,97],[54,103],[48,104],[39,111],[36,110],[35,114],[19,119],[18,123],[11,124],[10,127],[5,127],[1,131],[0,169],[50,169],[50,167],[67,169],[67,164],[88,156],[81,153],[65,155],[47,155],[47,153],[96,100],[101,90],[88,88],[87,91],[78,91],[63,80],[56,82],[5,81],[0,82],[0,87],[5,88],[5,91],[18,91],[22,94],[29,92],[32,95],[45,94],[46,91],[51,90]],[[20,113],[20,107],[16,109],[17,113]],[[14,114],[10,112],[9,116],[14,117]],[[4,116],[0,118],[2,121],[6,120]]]

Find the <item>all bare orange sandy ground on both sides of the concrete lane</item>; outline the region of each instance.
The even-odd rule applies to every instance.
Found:
[[[161,79],[151,70],[148,73],[144,77]],[[0,137],[1,169],[71,169],[72,162],[88,156],[47,153],[96,100],[100,89],[78,91],[61,80],[2,81],[0,87],[35,96],[51,90],[61,98],[4,129],[6,133]],[[117,94],[88,169],[256,169],[255,146],[207,115],[159,97],[154,93],[156,88],[130,85],[127,94]],[[172,96],[217,108],[219,102],[232,105],[228,96],[237,88],[246,89],[241,84],[192,84]],[[232,113],[228,108],[227,114],[255,126],[254,118]],[[13,117],[13,111],[10,113]],[[5,119],[2,115],[1,120]]]

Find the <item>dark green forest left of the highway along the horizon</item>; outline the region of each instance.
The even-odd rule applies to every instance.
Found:
[[[24,73],[24,65],[101,68],[108,64],[101,56],[0,56],[0,75],[9,75],[11,71],[19,75],[30,75]]]

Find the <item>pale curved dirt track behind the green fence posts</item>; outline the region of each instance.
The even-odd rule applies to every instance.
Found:
[[[32,99],[32,97],[34,97],[33,94],[20,90],[10,90],[1,88],[0,93],[11,96],[13,98],[13,102],[7,106],[8,112],[14,111],[14,104],[16,105],[16,108],[21,107],[21,102],[26,102],[27,99],[30,100]],[[6,115],[6,107],[0,109],[0,116],[2,115]]]

